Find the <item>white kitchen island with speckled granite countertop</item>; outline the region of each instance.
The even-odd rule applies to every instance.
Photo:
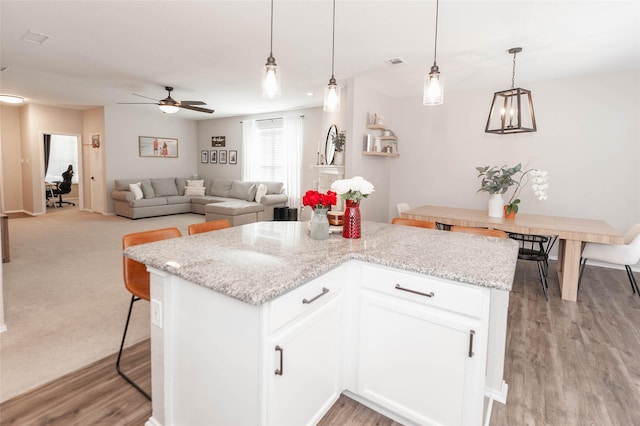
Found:
[[[258,222],[128,248],[152,273],[147,424],[315,424],[341,393],[403,424],[487,424],[517,243],[362,235]]]

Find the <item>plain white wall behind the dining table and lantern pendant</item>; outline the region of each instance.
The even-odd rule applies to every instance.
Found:
[[[598,81],[607,82],[605,96],[594,93]],[[475,167],[522,162],[548,170],[550,188],[546,201],[525,188],[520,212],[604,219],[621,232],[640,222],[640,72],[526,88],[536,133],[484,133],[490,90],[450,91],[438,107],[419,97],[394,100],[400,158],[387,160],[389,210],[398,202],[484,209],[488,195],[476,193]]]

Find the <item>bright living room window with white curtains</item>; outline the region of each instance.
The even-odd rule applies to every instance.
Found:
[[[245,120],[242,126],[242,178],[283,182],[289,206],[299,206],[303,118]]]

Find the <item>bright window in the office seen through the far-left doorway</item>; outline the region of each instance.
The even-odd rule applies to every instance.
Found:
[[[49,140],[49,142],[47,142]],[[48,147],[47,147],[48,145]],[[48,154],[47,154],[48,153]],[[73,166],[72,183],[78,183],[78,137],[44,135],[45,182],[62,181],[62,173]]]

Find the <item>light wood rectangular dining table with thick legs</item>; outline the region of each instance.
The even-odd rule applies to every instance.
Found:
[[[521,234],[556,235],[558,282],[562,299],[575,302],[578,297],[580,254],[585,242],[623,244],[624,236],[604,220],[575,217],[517,214],[514,219],[490,217],[486,210],[455,207],[420,206],[401,214],[409,219],[427,220],[445,225],[500,229]]]

